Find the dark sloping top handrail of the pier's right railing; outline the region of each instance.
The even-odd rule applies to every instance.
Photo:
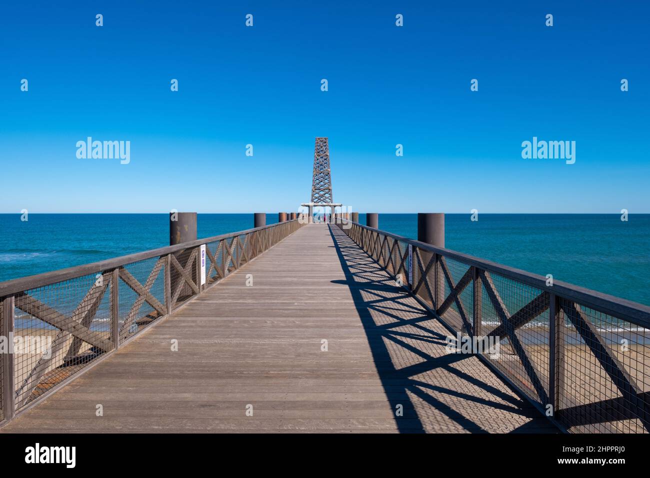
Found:
[[[344,222],[346,222],[346,220],[344,220]],[[369,230],[370,232],[376,232],[387,237],[391,237],[392,239],[417,246],[422,250],[434,252],[448,258],[458,259],[467,265],[473,265],[474,267],[478,267],[479,269],[484,269],[489,272],[496,272],[502,276],[518,280],[523,284],[531,285],[532,287],[537,287],[538,289],[549,291],[549,293],[554,293],[555,295],[564,297],[566,299],[575,300],[575,302],[580,302],[586,306],[591,306],[597,310],[600,310],[601,312],[609,313],[610,315],[616,315],[621,319],[626,319],[632,323],[635,323],[636,325],[642,326],[643,328],[650,328],[650,306],[646,306],[638,302],[633,302],[632,300],[621,299],[620,297],[604,294],[592,289],[586,289],[586,287],[580,287],[578,285],[569,284],[568,282],[562,282],[560,280],[553,280],[553,285],[549,286],[546,285],[546,277],[539,274],[534,274],[533,272],[527,272],[523,271],[522,269],[510,267],[508,265],[487,261],[486,259],[476,258],[474,256],[470,256],[469,254],[463,254],[463,252],[457,252],[455,250],[447,248],[432,246],[427,243],[416,241],[415,239],[409,239],[408,237],[404,237],[402,235],[393,234],[391,232],[383,231],[380,229],[370,228],[369,226],[364,226],[358,222],[354,222],[353,224],[359,228]]]

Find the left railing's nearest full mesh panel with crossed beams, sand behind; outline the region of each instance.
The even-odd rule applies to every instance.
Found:
[[[16,295],[16,411],[113,349],[112,285],[110,274],[99,273]]]

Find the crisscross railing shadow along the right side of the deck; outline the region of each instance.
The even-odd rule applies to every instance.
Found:
[[[448,354],[444,326],[339,228],[330,234],[346,278],[333,282],[348,285],[387,399],[402,407],[398,431],[558,431],[475,356]]]

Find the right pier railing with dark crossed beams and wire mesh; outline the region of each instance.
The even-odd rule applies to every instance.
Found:
[[[474,352],[561,429],[650,431],[650,307],[344,222],[350,239],[452,333],[481,345]]]

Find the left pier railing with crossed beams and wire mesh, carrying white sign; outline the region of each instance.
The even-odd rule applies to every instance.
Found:
[[[12,347],[0,353],[0,424],[302,225],[290,220],[0,282],[0,335]]]

